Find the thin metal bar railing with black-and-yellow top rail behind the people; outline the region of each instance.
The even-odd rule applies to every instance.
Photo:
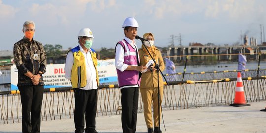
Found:
[[[200,81],[173,81],[164,86],[162,109],[176,110],[191,107],[232,104],[237,78]],[[266,100],[266,77],[242,78],[246,102]],[[97,116],[121,114],[121,93],[118,85],[99,86]],[[43,121],[73,118],[72,88],[45,89],[41,118]],[[21,101],[18,90],[0,92],[0,124],[21,122]],[[139,94],[138,111],[143,111]]]

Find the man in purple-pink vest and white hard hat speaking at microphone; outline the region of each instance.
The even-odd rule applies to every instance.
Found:
[[[135,18],[126,18],[122,25],[125,38],[115,47],[115,66],[121,89],[123,133],[136,132],[139,72],[147,68],[139,64],[138,48],[134,40],[138,27]]]

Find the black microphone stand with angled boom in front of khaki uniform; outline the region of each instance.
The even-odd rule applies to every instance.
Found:
[[[151,55],[151,53],[149,52],[148,48],[146,47],[146,45],[144,44],[144,40],[141,40],[142,42],[142,45],[145,47],[145,49],[148,51],[151,59],[153,60],[153,62],[156,64],[154,68],[156,68],[156,71],[157,71],[157,87],[158,87],[158,93],[157,93],[157,98],[158,98],[158,122],[159,122],[159,132],[160,132],[160,107],[161,107],[161,104],[160,104],[160,88],[159,88],[159,71],[161,73],[161,75],[164,77],[165,81],[166,81],[166,84],[169,85],[169,83],[167,82],[164,74],[162,73],[162,71],[159,69],[159,64],[157,64],[155,62],[155,59],[154,57]],[[148,41],[149,42],[149,41]],[[150,43],[150,42],[149,42]],[[151,44],[150,44],[151,45]],[[159,55],[160,56],[160,55]],[[158,63],[159,63],[159,59],[158,59]]]

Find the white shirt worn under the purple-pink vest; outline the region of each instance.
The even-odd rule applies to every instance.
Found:
[[[124,38],[134,49],[136,47],[136,50],[137,50],[137,53],[138,53],[138,48],[137,48],[137,45],[136,45],[136,42],[127,37]],[[138,55],[139,57],[139,55]],[[118,44],[116,45],[116,48],[115,48],[115,67],[117,69],[119,69],[121,72],[125,71],[127,69],[129,65],[127,64],[124,64],[124,49],[122,47],[122,45]],[[128,86],[123,86],[121,87],[120,89],[122,88],[129,88],[129,87],[138,87],[138,85],[128,85]]]

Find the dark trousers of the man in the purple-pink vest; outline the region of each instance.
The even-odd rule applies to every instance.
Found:
[[[138,87],[121,89],[123,133],[136,132],[138,91]]]

